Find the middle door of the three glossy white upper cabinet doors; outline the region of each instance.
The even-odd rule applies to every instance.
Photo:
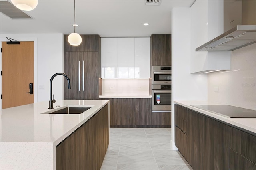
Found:
[[[134,38],[118,38],[118,78],[134,78]]]

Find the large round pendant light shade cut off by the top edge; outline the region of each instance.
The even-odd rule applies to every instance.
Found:
[[[11,0],[12,4],[24,11],[34,10],[38,4],[38,0]]]

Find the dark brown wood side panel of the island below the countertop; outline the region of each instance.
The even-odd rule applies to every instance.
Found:
[[[108,105],[56,146],[56,170],[100,170],[109,144]]]

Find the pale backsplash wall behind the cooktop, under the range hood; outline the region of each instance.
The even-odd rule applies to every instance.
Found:
[[[256,110],[256,43],[231,52],[229,72],[208,74],[208,101]]]

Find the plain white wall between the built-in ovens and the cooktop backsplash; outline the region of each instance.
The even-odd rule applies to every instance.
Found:
[[[207,100],[207,75],[190,74],[190,8],[172,10],[172,101]],[[172,103],[172,127],[174,127]],[[172,149],[174,145],[172,128]]]

